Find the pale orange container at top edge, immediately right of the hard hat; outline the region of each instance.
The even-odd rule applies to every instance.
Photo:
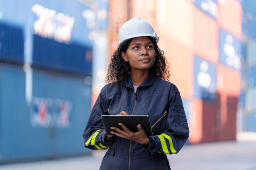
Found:
[[[194,5],[188,0],[158,0],[156,34],[169,37],[187,48],[191,48]],[[160,36],[160,39],[163,36]]]

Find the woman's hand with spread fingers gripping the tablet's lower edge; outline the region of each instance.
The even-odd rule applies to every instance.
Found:
[[[123,123],[118,123],[123,130],[120,130],[119,128],[116,127],[111,127],[111,129],[117,131],[117,132],[113,132],[111,131],[112,134],[119,136],[120,138],[125,138],[125,139],[129,139],[129,140],[133,140],[137,143],[140,143],[141,145],[148,145],[149,144],[149,138],[146,135],[145,131],[143,130],[143,128],[141,127],[141,124],[138,124],[138,132],[133,133],[131,132],[131,130],[129,130],[128,128],[126,128],[126,126]]]

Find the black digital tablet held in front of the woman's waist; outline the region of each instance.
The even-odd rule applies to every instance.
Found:
[[[107,135],[113,135],[110,133],[110,131],[115,131],[110,129],[111,126],[123,130],[123,128],[118,125],[119,122],[123,123],[132,132],[138,132],[137,125],[141,124],[142,128],[145,130],[146,135],[152,135],[151,124],[148,115],[102,115],[101,119]]]

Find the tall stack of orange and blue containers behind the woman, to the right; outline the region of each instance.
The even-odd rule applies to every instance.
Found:
[[[116,3],[110,0],[110,9]],[[241,16],[238,0],[123,0],[115,23],[139,16],[156,29],[179,88],[190,127],[189,143],[236,139],[241,88]],[[150,4],[138,9],[136,5]],[[122,9],[122,10],[121,10]],[[143,11],[143,13],[141,13]],[[114,17],[110,11],[110,20]],[[111,23],[110,23],[111,26]],[[112,27],[110,27],[112,28]],[[116,49],[118,30],[110,29]],[[115,32],[115,33],[113,33]],[[113,35],[115,34],[115,35]]]

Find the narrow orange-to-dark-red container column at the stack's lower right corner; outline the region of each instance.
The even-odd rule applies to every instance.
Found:
[[[230,67],[217,67],[217,140],[236,139],[237,100],[241,92],[241,73]]]

